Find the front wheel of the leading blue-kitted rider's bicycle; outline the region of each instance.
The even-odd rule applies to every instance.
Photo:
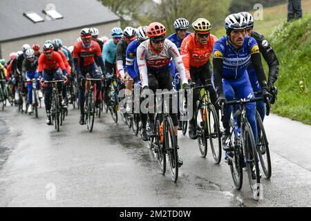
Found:
[[[255,146],[254,134],[249,123],[246,122],[243,128],[243,150],[246,157],[246,169],[249,186],[253,193],[259,194],[261,176],[258,164],[258,155]],[[257,195],[259,197],[259,195]]]

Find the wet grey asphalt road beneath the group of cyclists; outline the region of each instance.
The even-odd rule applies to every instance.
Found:
[[[271,115],[265,119],[272,178],[263,200],[252,198],[247,174],[236,191],[229,166],[200,156],[179,132],[184,165],[178,182],[162,175],[140,136],[110,114],[92,133],[70,111],[57,133],[39,119],[7,107],[0,112],[0,206],[311,206],[311,126]]]

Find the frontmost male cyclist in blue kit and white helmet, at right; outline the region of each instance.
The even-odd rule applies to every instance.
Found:
[[[247,22],[241,14],[232,14],[225,19],[225,30],[227,36],[220,38],[213,48],[214,84],[218,93],[217,104],[221,106],[226,100],[251,99],[254,97],[252,85],[247,74],[247,66],[252,60],[256,70],[258,82],[263,91],[263,97],[267,99],[267,83],[265,73],[261,64],[261,54],[258,44],[252,37],[246,35]],[[232,106],[225,106],[223,127],[225,135],[223,143],[229,139],[229,120]],[[247,103],[246,116],[249,121],[256,142],[256,104]],[[223,145],[225,151],[229,146]]]

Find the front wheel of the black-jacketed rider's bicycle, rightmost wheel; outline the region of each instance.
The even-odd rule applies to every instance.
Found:
[[[267,142],[267,136],[265,134],[265,127],[263,126],[263,121],[261,120],[261,116],[258,112],[256,112],[256,122],[258,131],[256,149],[259,160],[261,161],[261,168],[263,169],[263,173],[265,173],[265,177],[267,177],[267,179],[270,179],[272,175],[272,168],[269,143]]]

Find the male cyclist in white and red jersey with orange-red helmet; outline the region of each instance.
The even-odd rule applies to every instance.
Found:
[[[150,89],[156,93],[156,89],[173,88],[171,77],[171,67],[169,63],[171,59],[180,73],[183,88],[189,89],[188,79],[185,73],[185,66],[178,52],[178,48],[169,39],[165,39],[165,27],[162,23],[153,22],[147,28],[147,36],[149,39],[142,42],[137,49],[137,61],[142,80],[142,94]],[[171,102],[170,102],[171,103]],[[170,112],[172,104],[170,104]],[[174,131],[177,142],[177,125],[178,119],[176,114],[171,114]],[[147,135],[154,136],[153,131],[153,114],[149,113],[149,125],[147,126]],[[182,165],[182,159],[178,156],[178,166]]]

